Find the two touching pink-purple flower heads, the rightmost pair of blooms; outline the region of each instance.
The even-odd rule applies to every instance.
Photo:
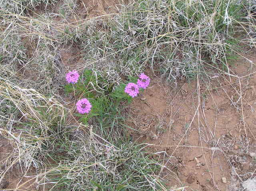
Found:
[[[137,84],[128,83],[124,89],[124,92],[132,96],[132,98],[134,98],[138,95],[139,89],[140,88],[146,89],[149,83],[150,83],[150,78],[144,73],[141,73],[137,81]]]

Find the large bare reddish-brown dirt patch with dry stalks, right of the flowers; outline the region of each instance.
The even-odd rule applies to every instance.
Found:
[[[161,171],[167,185],[234,191],[240,184],[233,174],[255,177],[248,153],[256,150],[256,73],[248,73],[256,70],[256,53],[246,57],[253,64],[240,59],[230,68],[239,79],[213,74],[172,88],[148,73],[150,87],[132,103],[130,132],[170,169]]]

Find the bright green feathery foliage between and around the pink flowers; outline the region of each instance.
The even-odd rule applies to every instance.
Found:
[[[136,81],[136,78],[129,77],[132,81]],[[124,92],[125,84],[122,83],[114,90],[111,88],[105,88],[102,84],[106,81],[102,77],[96,77],[92,70],[84,70],[82,77],[80,77],[78,83],[65,85],[65,93],[74,93],[77,98],[87,98],[92,104],[91,111],[88,114],[75,114],[80,117],[80,121],[83,124],[88,124],[88,120],[93,116],[98,116],[103,120],[111,118],[118,111],[120,103],[130,103],[132,98]],[[105,88],[105,89],[104,89]]]

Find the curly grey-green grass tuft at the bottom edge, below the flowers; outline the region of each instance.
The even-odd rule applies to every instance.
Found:
[[[64,160],[48,174],[48,177],[54,177],[56,172],[63,175],[61,179],[51,178],[57,182],[55,189],[151,191],[162,186],[154,174],[160,167],[159,163],[132,142],[126,140],[126,143],[122,143],[121,137],[116,137],[115,144],[111,144],[93,133],[90,139],[87,136],[77,138],[70,148],[71,151],[79,151],[72,153],[76,160]]]

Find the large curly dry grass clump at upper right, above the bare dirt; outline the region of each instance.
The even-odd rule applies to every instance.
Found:
[[[208,66],[227,71],[235,48],[231,35],[246,16],[242,6],[228,0],[140,0],[125,6],[106,30],[84,34],[84,58],[102,76],[111,72],[106,77],[115,83],[120,74],[155,66],[174,82]]]

